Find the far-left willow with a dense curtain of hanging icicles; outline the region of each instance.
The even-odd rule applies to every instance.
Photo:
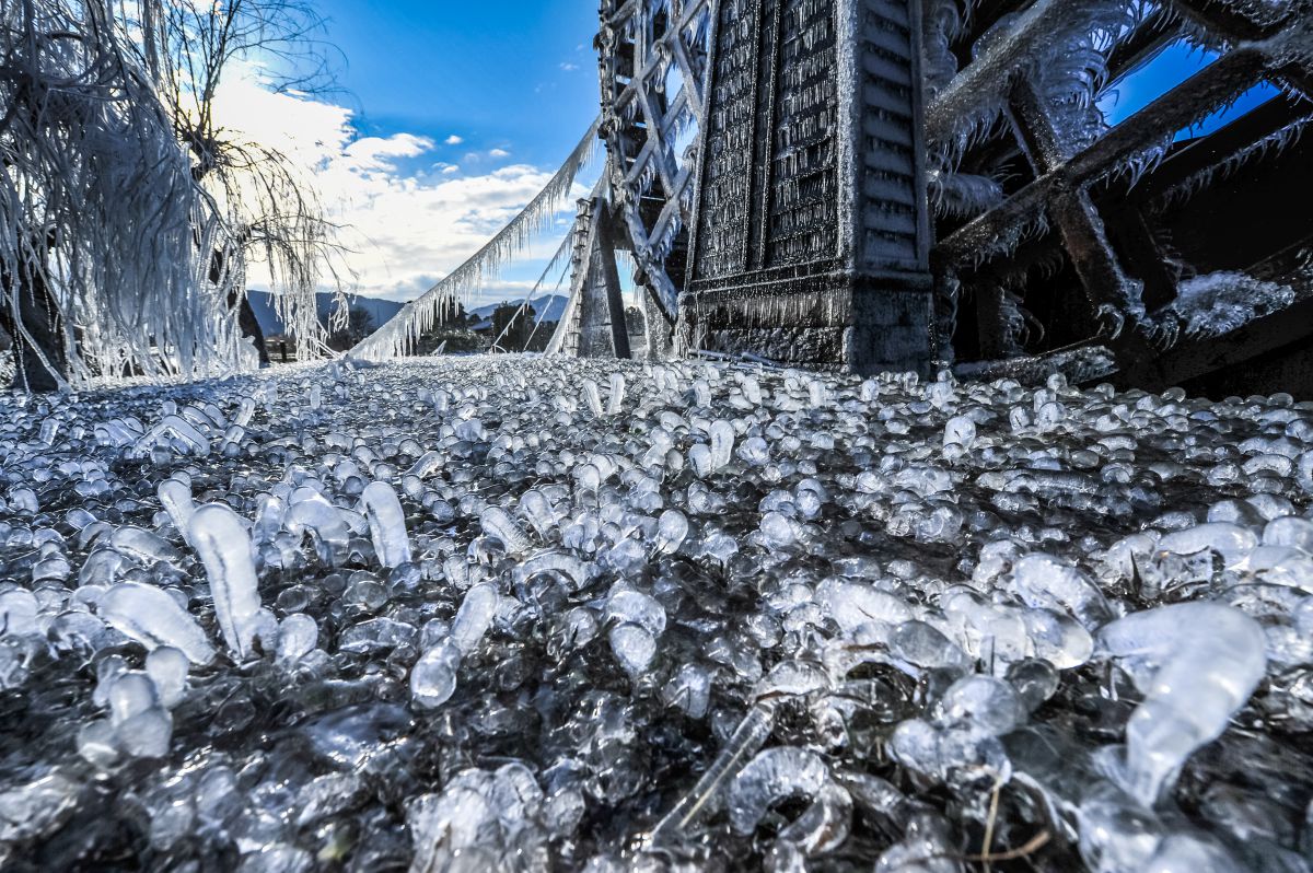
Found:
[[[98,3],[0,0],[0,318],[33,389],[206,372],[238,344],[198,281],[204,205],[135,56]]]

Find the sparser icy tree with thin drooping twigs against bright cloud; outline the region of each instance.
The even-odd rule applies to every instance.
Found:
[[[257,67],[276,93],[324,88],[323,18],[294,0],[147,0],[140,9],[143,64],[163,81],[177,140],[211,209],[198,231],[210,281],[244,301],[248,268],[265,265],[282,323],[301,345],[320,347],[315,290],[322,280],[341,289],[337,228],[288,155],[223,126],[215,95],[238,64]]]

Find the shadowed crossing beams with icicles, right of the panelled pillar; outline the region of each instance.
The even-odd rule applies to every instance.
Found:
[[[958,358],[1098,344],[1127,378],[1190,378],[1218,361],[1196,354],[1190,368],[1173,368],[1188,357],[1183,340],[1216,339],[1209,333],[1296,302],[1308,284],[1299,259],[1274,256],[1306,251],[1313,223],[1247,234],[1263,215],[1243,214],[1234,192],[1263,185],[1279,201],[1306,175],[1306,161],[1281,158],[1313,118],[1309,3],[927,8],[940,330]],[[1109,126],[1098,105],[1109,85],[1174,43],[1218,56]],[[1215,133],[1182,138],[1263,81],[1281,93]],[[1276,169],[1254,176],[1255,167]],[[1207,251],[1196,245],[1203,239],[1224,244]],[[1195,272],[1217,276],[1183,281]]]

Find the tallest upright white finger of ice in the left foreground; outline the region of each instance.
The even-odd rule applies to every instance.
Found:
[[[214,614],[223,639],[239,658],[249,658],[260,616],[251,537],[238,515],[219,503],[197,509],[190,529],[192,543],[210,580]]]

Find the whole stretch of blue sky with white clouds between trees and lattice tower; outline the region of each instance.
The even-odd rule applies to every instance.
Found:
[[[414,299],[532,200],[596,117],[596,7],[327,0],[316,9],[341,54],[339,87],[272,93],[252,63],[225,77],[218,117],[306,168],[347,228],[348,290]],[[599,171],[580,179],[580,196]],[[471,303],[520,299],[572,213],[571,203],[555,232]]]

